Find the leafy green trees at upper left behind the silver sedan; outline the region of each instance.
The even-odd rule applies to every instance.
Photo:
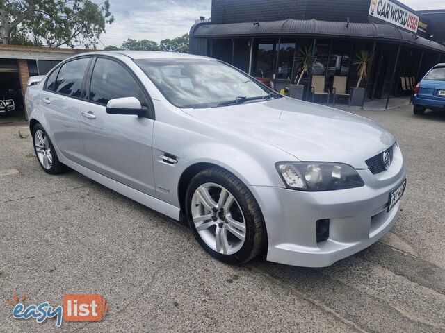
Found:
[[[109,0],[102,5],[90,0],[1,0],[2,42],[10,44],[15,32],[38,45],[95,47],[105,25],[114,21],[109,9]]]

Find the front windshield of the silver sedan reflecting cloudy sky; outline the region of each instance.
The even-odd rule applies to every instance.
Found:
[[[223,62],[207,59],[136,59],[178,108],[214,108],[270,99],[275,92]]]

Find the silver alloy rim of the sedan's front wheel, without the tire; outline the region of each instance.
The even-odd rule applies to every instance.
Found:
[[[217,253],[233,255],[244,244],[246,225],[234,196],[223,186],[207,182],[197,187],[191,200],[195,228]]]

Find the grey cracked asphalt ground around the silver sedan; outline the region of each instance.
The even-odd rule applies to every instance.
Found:
[[[445,112],[357,111],[408,166],[401,217],[328,268],[227,266],[188,228],[70,171],[44,173],[26,123],[0,126],[1,332],[445,332]],[[13,319],[6,300],[100,293],[104,321]]]

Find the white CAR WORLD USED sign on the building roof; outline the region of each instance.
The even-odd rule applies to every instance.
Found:
[[[369,15],[396,26],[401,26],[414,33],[417,32],[417,27],[419,26],[419,17],[417,15],[389,0],[371,0]]]

